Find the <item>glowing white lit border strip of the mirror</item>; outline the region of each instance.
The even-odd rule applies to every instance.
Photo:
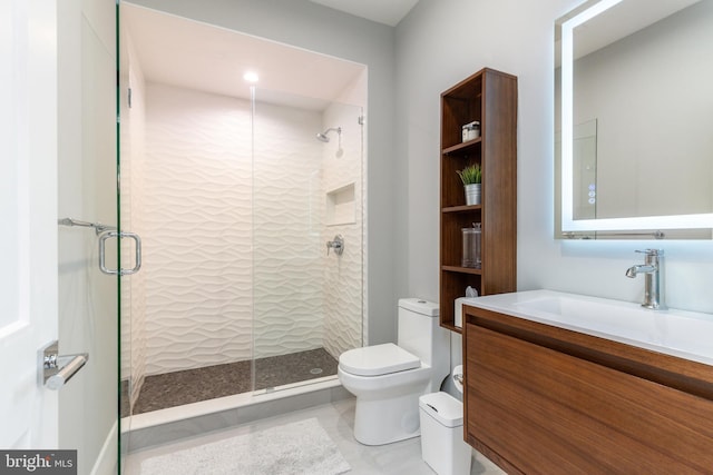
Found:
[[[584,8],[558,21],[560,32],[561,82],[561,231],[626,231],[652,229],[707,229],[713,228],[713,214],[668,215],[607,219],[574,219],[573,174],[573,93],[574,93],[574,29],[587,20],[616,6],[623,0],[593,0]],[[589,6],[589,3],[592,3]],[[565,179],[565,177],[569,177]]]

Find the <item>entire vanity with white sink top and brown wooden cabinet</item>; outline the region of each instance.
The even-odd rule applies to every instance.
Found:
[[[465,438],[508,474],[713,472],[713,317],[550,290],[463,305]]]

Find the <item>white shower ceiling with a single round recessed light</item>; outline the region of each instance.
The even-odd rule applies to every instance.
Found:
[[[121,4],[144,77],[149,82],[247,99],[247,70],[260,76],[261,101],[321,110],[365,70],[364,65],[276,41]]]

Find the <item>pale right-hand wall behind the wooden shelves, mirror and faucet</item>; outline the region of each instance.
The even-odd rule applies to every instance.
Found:
[[[713,311],[710,241],[556,241],[553,238],[554,22],[574,0],[421,0],[397,27],[398,167],[408,170],[408,249],[398,277],[408,293],[438,296],[439,95],[490,67],[519,78],[518,289],[551,288],[629,301],[642,279],[624,271],[635,249],[666,250],[672,307]],[[675,98],[672,97],[672,100]]]

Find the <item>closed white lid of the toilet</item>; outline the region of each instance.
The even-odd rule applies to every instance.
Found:
[[[418,368],[421,360],[393,343],[385,343],[344,352],[339,357],[339,365],[353,375],[379,376]]]

